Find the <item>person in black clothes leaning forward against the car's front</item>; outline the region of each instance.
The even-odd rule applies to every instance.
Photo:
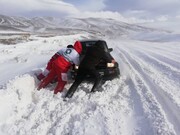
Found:
[[[114,62],[114,60],[112,60],[112,58],[110,57],[109,53],[104,51],[103,44],[104,42],[99,40],[92,47],[87,48],[86,54],[79,65],[75,81],[66,93],[65,98],[71,98],[73,96],[77,87],[88,74],[94,77],[94,85],[91,89],[91,92],[95,92],[99,88],[102,77],[96,70],[96,65],[102,59],[105,60],[107,63]]]

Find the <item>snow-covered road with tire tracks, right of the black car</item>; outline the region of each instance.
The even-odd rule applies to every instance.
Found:
[[[179,47],[179,43],[134,41],[119,43],[115,49],[121,64],[126,65],[123,68],[129,71],[127,85],[131,87],[135,114],[148,118],[154,134],[171,134],[171,127],[176,134],[180,132]]]

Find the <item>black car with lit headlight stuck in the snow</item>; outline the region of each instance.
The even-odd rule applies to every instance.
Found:
[[[86,54],[86,49],[89,47],[92,47],[97,41],[99,41],[99,40],[81,40],[80,41],[82,44],[82,47],[83,47],[83,51],[82,51],[81,56],[80,56],[80,61],[84,58],[84,56]],[[104,42],[104,44],[103,44],[104,51],[109,53],[111,60],[114,60],[114,58],[110,54],[110,52],[113,51],[113,49],[108,48],[106,41],[104,41],[104,40],[100,40],[100,41]],[[112,80],[116,77],[119,77],[119,75],[120,75],[119,65],[117,62],[106,63],[104,60],[101,60],[99,62],[99,64],[96,66],[96,69],[102,75],[103,80]],[[73,79],[77,75],[77,70],[78,70],[77,66],[74,66],[71,70],[71,75],[72,75]],[[90,79],[90,78],[92,78],[92,77],[87,76],[87,79]]]

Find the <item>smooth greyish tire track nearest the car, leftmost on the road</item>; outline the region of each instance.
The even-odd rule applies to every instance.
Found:
[[[124,55],[120,54],[118,47],[116,47],[115,52],[116,52],[115,53],[116,59],[119,57],[119,59],[121,60],[121,61],[119,61],[119,64],[127,65],[126,67],[123,67],[123,68],[128,68],[129,72],[133,72],[131,69],[131,66],[128,63],[128,60],[126,59],[126,57]],[[129,87],[129,90],[130,90],[130,99],[132,101],[134,117],[136,118],[136,121],[138,119],[138,121],[136,122],[138,127],[140,128],[139,129],[140,131],[138,134],[145,135],[147,133],[153,133],[153,127],[151,125],[151,122],[145,116],[145,112],[143,109],[143,102],[141,101],[141,97],[135,88],[135,84],[134,84],[132,78],[129,78],[129,75],[127,75],[127,76],[128,76],[128,78],[125,80],[125,83],[127,84],[127,86]]]

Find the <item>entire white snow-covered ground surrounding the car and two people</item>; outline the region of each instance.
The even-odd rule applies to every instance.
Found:
[[[92,84],[84,82],[67,101],[72,81],[53,96],[54,85],[36,90],[34,73],[59,48],[91,36],[0,44],[0,135],[179,135],[180,42],[164,40],[167,33],[160,32],[105,37],[121,76],[107,81],[102,92],[89,93]]]

